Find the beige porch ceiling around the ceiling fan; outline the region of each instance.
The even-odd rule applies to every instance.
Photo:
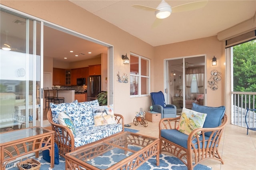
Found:
[[[156,27],[154,12],[138,10],[133,4],[156,8],[161,0],[70,0],[74,4],[149,43],[164,45],[216,36],[218,32],[252,18],[256,0],[208,0],[201,9],[172,13]],[[194,0],[166,0],[171,7]]]

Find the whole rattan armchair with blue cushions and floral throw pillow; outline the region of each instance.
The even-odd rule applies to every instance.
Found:
[[[182,116],[176,118],[161,119],[159,122],[160,153],[164,151],[173,154],[188,167],[188,170],[193,170],[197,164],[206,159],[215,159],[224,164],[218,152],[218,146],[220,146],[223,129],[228,122],[225,107],[207,107],[192,103],[192,111],[204,113],[206,117],[203,127],[191,129],[189,135],[183,133],[183,130],[177,130],[181,127],[180,122],[183,122],[183,126],[187,124],[186,127],[192,127],[190,125],[195,124],[192,119],[188,119],[187,113],[182,113]],[[184,123],[184,119],[182,121],[182,117],[187,120],[187,123]],[[196,113],[192,117],[197,117],[195,120],[199,120]]]

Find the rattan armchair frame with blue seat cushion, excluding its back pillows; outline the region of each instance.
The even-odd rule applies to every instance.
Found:
[[[207,111],[204,113],[207,113]],[[226,114],[224,114],[218,127],[197,128],[189,135],[176,130],[179,120],[180,117],[165,118],[159,122],[160,152],[165,151],[173,154],[188,167],[188,170],[193,170],[194,166],[205,159],[216,159],[224,164],[218,152],[218,146],[228,121]],[[201,133],[198,134],[200,131]],[[198,148],[198,146],[200,147]]]

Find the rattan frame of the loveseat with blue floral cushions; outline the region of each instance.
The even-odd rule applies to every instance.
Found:
[[[114,115],[115,115],[116,123],[122,124],[122,127],[123,127],[122,132],[124,132],[124,117],[122,115],[118,115],[118,114],[114,114]],[[75,147],[74,135],[72,134],[71,130],[68,127],[54,123],[52,121],[52,111],[51,110],[49,110],[47,113],[47,119],[50,122],[50,124],[52,125],[52,130],[55,131],[54,142],[58,145],[59,154],[61,156],[63,156],[65,158],[66,153],[82,147],[82,146]],[[119,133],[122,133],[122,132],[119,132]],[[119,134],[119,133],[116,133],[116,134]],[[116,134],[113,134],[106,138],[111,138]],[[106,139],[106,138],[104,138],[104,139]],[[92,143],[94,143],[94,142],[92,142]],[[90,143],[90,144],[92,144],[92,143]]]

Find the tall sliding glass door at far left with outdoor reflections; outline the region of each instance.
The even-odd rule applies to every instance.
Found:
[[[0,11],[0,131],[40,126],[41,23]]]

